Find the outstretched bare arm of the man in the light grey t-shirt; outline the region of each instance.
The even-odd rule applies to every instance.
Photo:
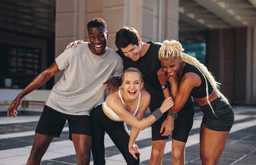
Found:
[[[42,86],[43,84],[45,84],[57,72],[59,72],[59,67],[58,67],[57,63],[54,62],[51,65],[51,67],[45,69],[45,71],[43,71],[37,77],[35,77],[35,79],[33,79],[33,81],[31,83],[29,83],[29,85],[18,94],[18,96],[15,98],[15,100],[13,100],[13,102],[11,103],[11,105],[9,106],[9,108],[7,110],[7,116],[9,116],[9,114],[11,114],[12,117],[16,117],[17,116],[17,108],[18,108],[19,104],[21,104],[22,98],[24,96],[26,96],[27,94],[29,94],[30,92],[32,92],[33,90],[35,90],[35,89],[39,88],[40,86]]]

